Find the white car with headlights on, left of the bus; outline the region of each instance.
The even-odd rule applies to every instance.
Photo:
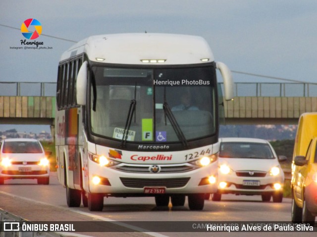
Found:
[[[50,183],[52,152],[44,151],[36,139],[4,139],[0,142],[0,185],[6,179],[37,179],[38,184]]]

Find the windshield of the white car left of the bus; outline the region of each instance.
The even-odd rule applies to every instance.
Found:
[[[42,153],[39,142],[4,142],[2,153]]]

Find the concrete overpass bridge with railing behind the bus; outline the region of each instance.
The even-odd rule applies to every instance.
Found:
[[[1,124],[47,124],[53,129],[56,83],[0,82]],[[317,84],[236,83],[224,101],[226,124],[297,124],[317,111]]]

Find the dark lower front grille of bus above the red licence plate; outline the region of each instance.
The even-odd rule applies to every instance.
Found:
[[[166,187],[168,188],[182,188],[184,187],[190,178],[171,178],[171,179],[136,179],[136,178],[122,178],[120,177],[122,184],[127,188],[139,188],[144,187]]]

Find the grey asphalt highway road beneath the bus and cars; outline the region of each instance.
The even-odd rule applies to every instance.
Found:
[[[56,173],[51,173],[50,185],[37,185],[36,180],[6,180],[0,186],[0,208],[30,221],[116,221],[117,228],[134,228],[120,224],[124,221],[290,221],[291,200],[282,203],[262,202],[261,196],[223,195],[220,202],[205,201],[203,211],[190,211],[187,201],[184,207],[157,208],[154,197],[105,198],[102,212],[90,212],[83,206],[69,208],[66,204],[65,189],[58,183]],[[121,226],[120,226],[121,225]],[[316,228],[316,227],[315,227]],[[115,229],[115,228],[114,228]],[[134,228],[134,230],[138,230]],[[152,232],[116,233],[106,236],[267,236],[268,233],[179,233]],[[80,233],[84,236],[105,236],[105,233]],[[273,236],[316,236],[316,232],[271,233]],[[73,234],[74,235],[74,234]]]

